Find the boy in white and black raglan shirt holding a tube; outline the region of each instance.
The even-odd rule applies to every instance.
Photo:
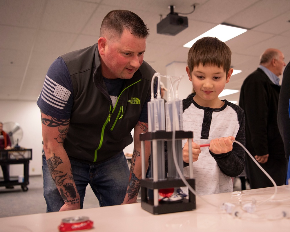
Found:
[[[244,111],[218,95],[229,82],[233,69],[231,50],[217,38],[196,41],[188,53],[186,72],[196,94],[183,100],[183,129],[193,131],[192,155],[195,190],[200,195],[233,191],[231,177],[245,166]],[[199,144],[208,144],[200,148]],[[182,141],[183,160],[189,162],[188,142]],[[189,167],[184,168],[189,176]]]

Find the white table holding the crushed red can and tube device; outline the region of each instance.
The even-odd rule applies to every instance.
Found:
[[[269,198],[274,188],[254,189],[204,196],[204,199],[215,205],[223,202],[238,204],[255,198],[262,201]],[[290,186],[278,186],[274,199],[280,202],[268,202],[257,208],[259,214],[267,217],[281,215],[282,211],[290,214]],[[288,199],[285,201],[285,199]],[[58,231],[62,218],[88,216],[94,222],[94,228],[87,231],[136,231],[136,232],[176,232],[176,231],[230,231],[230,232],[284,232],[290,231],[290,216],[278,220],[246,220],[234,218],[197,197],[197,208],[193,211],[153,215],[141,208],[140,203],[81,209],[74,211],[40,213],[0,218],[1,232],[53,232]],[[238,206],[239,208],[240,206]],[[248,213],[245,213],[247,215]],[[245,216],[244,215],[244,216]],[[243,216],[243,217],[244,217]]]

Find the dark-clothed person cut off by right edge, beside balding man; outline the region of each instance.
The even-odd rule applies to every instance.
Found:
[[[278,101],[278,128],[283,139],[284,150],[287,162],[290,155],[290,119],[289,119],[289,99],[290,99],[290,62],[284,69],[281,90]],[[289,177],[287,178],[287,180]],[[287,183],[286,180],[286,183]]]

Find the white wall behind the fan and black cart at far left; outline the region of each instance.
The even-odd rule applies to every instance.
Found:
[[[17,122],[23,130],[23,137],[19,145],[32,149],[29,175],[41,175],[41,117],[36,101],[0,101],[0,109],[0,122]],[[21,174],[23,174],[23,164],[10,165],[10,176]],[[3,176],[2,170],[0,176]]]

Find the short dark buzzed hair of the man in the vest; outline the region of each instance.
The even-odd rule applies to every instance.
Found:
[[[121,37],[124,29],[139,38],[149,35],[148,27],[137,14],[129,10],[112,10],[102,21],[100,37]]]

